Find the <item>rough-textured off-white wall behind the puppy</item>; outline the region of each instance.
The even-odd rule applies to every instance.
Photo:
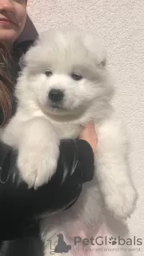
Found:
[[[137,210],[128,223],[131,235],[142,238],[144,243],[143,0],[30,0],[28,14],[38,32],[56,26],[78,26],[104,39],[116,79],[115,106],[131,138],[130,162],[139,194]],[[144,253],[135,252],[136,255]]]

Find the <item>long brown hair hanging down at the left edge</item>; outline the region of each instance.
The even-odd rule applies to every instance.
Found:
[[[13,82],[10,76],[10,63],[10,52],[0,42],[0,127],[5,126],[10,120],[12,112]]]

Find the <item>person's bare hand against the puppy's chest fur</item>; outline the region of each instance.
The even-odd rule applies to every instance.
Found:
[[[82,128],[82,132],[79,136],[80,139],[85,140],[86,142],[88,142],[93,150],[93,152],[96,152],[96,148],[97,148],[97,135],[96,132],[94,130],[94,124],[89,122],[86,124],[86,126],[84,126]]]

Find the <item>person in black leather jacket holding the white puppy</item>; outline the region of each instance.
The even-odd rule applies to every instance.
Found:
[[[20,71],[18,62],[32,43],[16,43],[25,22],[26,0],[0,0],[1,129],[15,113],[14,83]],[[16,165],[18,152],[0,142],[0,256],[17,256],[19,250],[21,255],[42,254],[38,219],[46,211],[50,214],[66,210],[78,199],[82,183],[93,178],[96,145],[92,124],[83,128],[78,140],[63,140],[56,174],[48,184],[33,190],[19,175]],[[11,242],[3,242],[7,240]]]

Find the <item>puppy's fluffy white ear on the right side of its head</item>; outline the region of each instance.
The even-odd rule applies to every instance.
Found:
[[[94,34],[86,34],[84,44],[93,57],[95,64],[101,68],[105,68],[107,64],[107,52],[102,39]]]

